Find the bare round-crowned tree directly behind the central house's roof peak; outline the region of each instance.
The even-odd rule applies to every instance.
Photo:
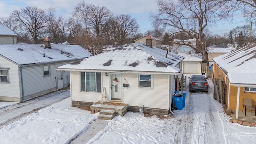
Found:
[[[126,44],[128,38],[132,38],[133,32],[137,32],[139,25],[130,14],[120,14],[110,20],[112,39],[118,44]]]

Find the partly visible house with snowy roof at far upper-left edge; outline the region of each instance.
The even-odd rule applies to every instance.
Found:
[[[0,22],[0,44],[17,44],[17,34]]]

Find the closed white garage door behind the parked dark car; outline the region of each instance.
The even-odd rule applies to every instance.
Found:
[[[183,61],[183,74],[200,74],[201,64],[195,61]]]

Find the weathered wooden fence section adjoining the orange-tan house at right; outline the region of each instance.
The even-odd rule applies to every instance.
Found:
[[[226,104],[226,84],[223,80],[214,79],[213,98],[221,104]]]

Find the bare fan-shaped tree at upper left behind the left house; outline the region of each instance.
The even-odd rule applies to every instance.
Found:
[[[42,38],[48,26],[48,18],[44,10],[37,6],[27,6],[20,10],[14,10],[11,16],[20,23],[24,31],[29,33],[36,43]]]

